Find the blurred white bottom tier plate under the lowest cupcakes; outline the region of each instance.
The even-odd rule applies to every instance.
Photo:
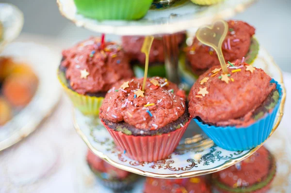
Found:
[[[280,127],[280,129],[270,137],[265,143],[276,159],[277,172],[272,182],[271,190],[268,193],[289,193],[291,191],[291,147],[289,138],[286,135],[288,127]],[[91,172],[85,160],[86,151],[80,151],[78,159],[76,159],[77,167],[77,187],[81,193],[113,193],[113,191],[105,188],[102,181],[98,180]],[[128,193],[143,193],[145,179],[134,184],[132,191]]]

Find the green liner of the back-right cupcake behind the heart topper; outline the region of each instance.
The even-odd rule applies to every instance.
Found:
[[[252,64],[259,54],[259,42],[255,37],[252,37],[249,52],[246,54],[244,62]],[[192,72],[191,67],[187,65],[186,54],[182,52],[179,56],[178,71],[180,81],[185,85],[186,91],[191,89],[194,82],[198,79],[199,75]]]

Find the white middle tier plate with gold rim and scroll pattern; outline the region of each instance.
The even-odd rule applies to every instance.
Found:
[[[270,134],[272,135],[282,119],[286,98],[282,73],[264,48],[260,48],[253,65],[262,68],[283,88],[282,101]],[[192,121],[178,148],[167,159],[146,163],[131,160],[126,152],[117,150],[113,138],[98,118],[86,117],[74,110],[74,126],[88,147],[100,158],[120,169],[156,178],[188,178],[217,172],[242,161],[259,148],[245,151],[219,148]]]

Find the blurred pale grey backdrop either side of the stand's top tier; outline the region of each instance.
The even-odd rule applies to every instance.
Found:
[[[56,0],[1,0],[15,4],[24,13],[25,23],[19,37],[33,37],[62,49],[97,33],[76,27],[63,17]],[[256,28],[256,37],[285,72],[291,72],[291,0],[258,0],[235,19]],[[35,36],[37,35],[37,36]],[[115,36],[107,36],[114,39]]]

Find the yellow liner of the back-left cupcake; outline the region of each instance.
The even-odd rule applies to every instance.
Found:
[[[82,95],[69,89],[65,73],[59,70],[58,79],[77,109],[79,109],[84,115],[99,115],[99,108],[101,107],[104,97]]]

